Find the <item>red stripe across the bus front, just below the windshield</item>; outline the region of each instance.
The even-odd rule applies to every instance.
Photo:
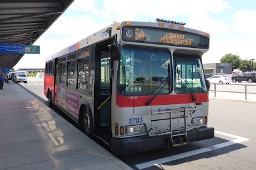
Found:
[[[125,97],[116,93],[116,104],[118,107],[138,107],[146,106],[154,95],[151,96],[134,96]],[[193,104],[209,102],[208,93],[195,94],[196,101],[192,100],[191,94],[179,94],[179,95],[157,95],[157,97],[150,103],[150,105],[172,105],[172,104]]]

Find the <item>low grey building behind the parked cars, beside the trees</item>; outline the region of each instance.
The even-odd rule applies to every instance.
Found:
[[[205,73],[232,73],[231,63],[209,63],[203,64]]]

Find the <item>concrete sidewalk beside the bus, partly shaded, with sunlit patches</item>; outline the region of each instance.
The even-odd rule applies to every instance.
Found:
[[[132,169],[18,84],[0,90],[0,169]]]

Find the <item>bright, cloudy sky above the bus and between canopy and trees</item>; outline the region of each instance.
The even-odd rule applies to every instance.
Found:
[[[118,2],[118,3],[117,3]],[[256,1],[253,0],[75,0],[33,43],[40,54],[25,54],[19,68],[44,68],[45,58],[113,22],[167,19],[210,34],[203,63],[220,63],[225,54],[256,59]]]

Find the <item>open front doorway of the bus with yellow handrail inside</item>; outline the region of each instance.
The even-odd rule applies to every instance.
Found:
[[[108,43],[95,48],[95,135],[104,143],[111,137],[111,63]]]

